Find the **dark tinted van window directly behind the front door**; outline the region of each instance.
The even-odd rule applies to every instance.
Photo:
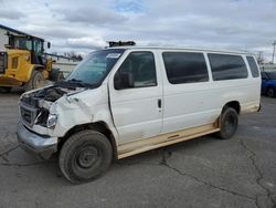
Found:
[[[163,52],[163,62],[171,84],[209,81],[203,53]]]

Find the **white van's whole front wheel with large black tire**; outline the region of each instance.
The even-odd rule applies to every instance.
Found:
[[[96,131],[82,131],[72,135],[60,153],[60,168],[71,183],[91,181],[108,169],[113,148],[105,135]]]

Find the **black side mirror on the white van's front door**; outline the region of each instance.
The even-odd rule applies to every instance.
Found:
[[[134,76],[131,73],[117,72],[114,77],[114,87],[116,90],[131,89],[134,87]]]

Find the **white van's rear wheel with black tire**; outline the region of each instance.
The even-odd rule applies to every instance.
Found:
[[[233,107],[226,107],[222,111],[220,117],[220,128],[221,131],[216,134],[222,139],[231,138],[238,125],[238,115]]]

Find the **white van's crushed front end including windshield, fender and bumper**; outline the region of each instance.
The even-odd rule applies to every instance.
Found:
[[[74,127],[103,122],[114,129],[105,79],[124,51],[93,52],[65,81],[23,94],[19,102],[20,145],[49,158]]]

